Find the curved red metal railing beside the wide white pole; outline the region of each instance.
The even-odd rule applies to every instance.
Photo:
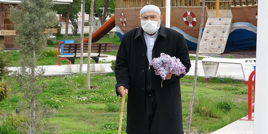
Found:
[[[248,81],[248,116],[246,116],[248,119],[240,119],[240,120],[247,120],[247,121],[253,121],[254,117],[252,117],[252,107],[254,107],[255,104],[255,77],[254,77],[254,98],[252,103],[252,78],[255,75],[256,70],[252,71],[249,75],[249,81]]]

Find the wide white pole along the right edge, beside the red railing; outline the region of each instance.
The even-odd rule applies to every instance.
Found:
[[[267,0],[259,0],[258,4],[258,28],[257,28],[257,50],[256,50],[256,91],[254,109],[254,134],[268,133],[268,62],[266,54],[268,51],[267,31]]]

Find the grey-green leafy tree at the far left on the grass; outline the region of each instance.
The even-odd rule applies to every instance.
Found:
[[[27,118],[19,129],[23,133],[34,134],[53,128],[53,125],[48,124],[53,109],[41,105],[37,99],[45,89],[45,84],[41,82],[45,70],[36,66],[51,35],[45,31],[58,22],[56,12],[51,10],[52,6],[52,0],[21,0],[19,6],[11,5],[9,9],[9,17],[16,30],[15,45],[19,46],[21,53],[20,67],[14,76],[25,99],[20,102],[20,111]]]

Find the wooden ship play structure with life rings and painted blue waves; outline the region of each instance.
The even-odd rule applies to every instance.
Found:
[[[220,0],[220,14],[216,18],[216,0],[206,1],[200,52],[220,54],[224,50],[256,49],[257,3],[257,0]],[[120,39],[140,26],[139,11],[144,5],[157,5],[165,26],[164,0],[116,0],[115,26]],[[189,50],[197,47],[201,10],[202,0],[171,0],[170,28],[184,35]]]

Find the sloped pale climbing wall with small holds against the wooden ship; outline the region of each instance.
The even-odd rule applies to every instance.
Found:
[[[232,18],[208,18],[200,42],[199,53],[223,53],[231,25]]]

